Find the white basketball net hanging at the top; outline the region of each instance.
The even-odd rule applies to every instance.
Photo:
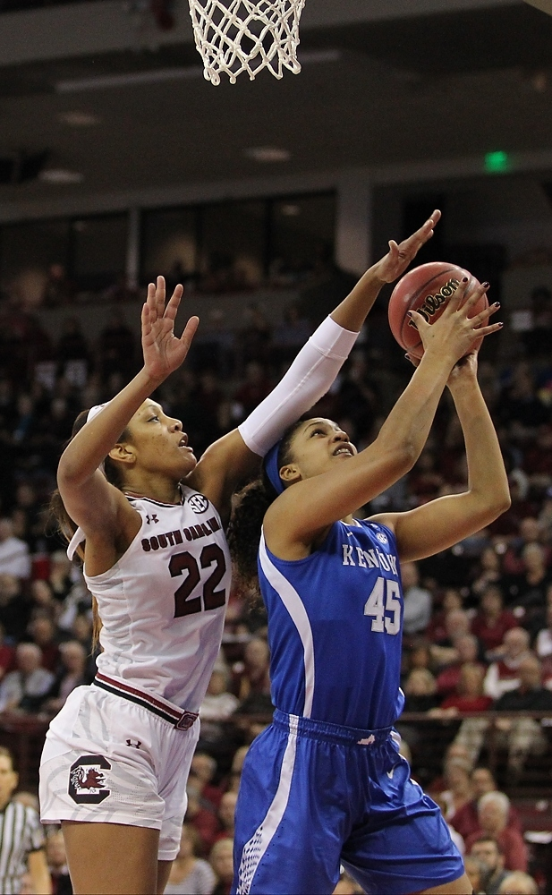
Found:
[[[242,72],[251,81],[263,68],[281,78],[284,68],[301,72],[297,61],[299,20],[305,0],[189,0],[196,47],[207,81],[221,72],[235,83]]]

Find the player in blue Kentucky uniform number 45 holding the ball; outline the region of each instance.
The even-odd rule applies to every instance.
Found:
[[[403,708],[399,562],[445,550],[510,501],[471,351],[474,327],[500,328],[487,325],[497,304],[470,320],[486,287],[462,304],[465,288],[433,325],[413,314],[425,354],[373,444],[357,454],[334,422],[298,422],[234,512],[231,548],[244,578],[255,574],[259,544],[276,705],[243,766],[238,895],[329,893],[340,863],[370,893],[472,891],[393,729]],[[359,522],[354,511],[412,468],[446,385],[463,428],[467,490]]]

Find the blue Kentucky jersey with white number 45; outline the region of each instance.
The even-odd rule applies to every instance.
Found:
[[[309,557],[275,557],[261,536],[272,701],[282,712],[351,728],[393,725],[400,689],[403,593],[395,535],[335,522]]]

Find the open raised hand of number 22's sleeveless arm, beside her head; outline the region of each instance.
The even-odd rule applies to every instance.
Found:
[[[174,319],[183,291],[183,286],[176,286],[165,304],[165,277],[157,277],[157,284],[150,283],[148,286],[141,324],[144,367],[151,379],[166,379],[170,373],[178,370],[190,350],[199,318],[191,317],[188,320],[180,338],[174,335]]]

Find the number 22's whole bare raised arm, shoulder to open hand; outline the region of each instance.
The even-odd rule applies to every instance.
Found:
[[[113,533],[121,508],[127,504],[98,467],[142,402],[182,364],[188,353],[199,321],[191,318],[182,337],[174,336],[174,318],[182,294],[182,286],[177,286],[165,305],[163,277],[157,278],[157,286],[149,284],[142,309],[142,369],[86,423],[61,456],[57,470],[60,494],[69,516],[84,533]]]

